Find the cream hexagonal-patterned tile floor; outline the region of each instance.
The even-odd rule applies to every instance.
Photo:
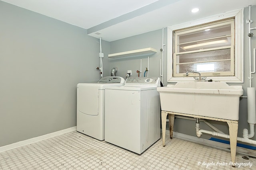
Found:
[[[240,167],[229,164],[230,152],[190,141],[162,139],[142,154],[72,131],[0,153],[1,170],[255,170],[256,158],[236,154]],[[222,163],[219,164],[218,162]],[[207,165],[208,164],[208,165]],[[251,167],[250,167],[251,166]]]

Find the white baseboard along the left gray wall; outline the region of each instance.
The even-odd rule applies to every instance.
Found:
[[[42,140],[45,140],[45,139],[56,137],[58,135],[62,135],[64,133],[68,133],[68,132],[72,132],[72,131],[76,131],[76,126],[70,127],[68,129],[63,129],[63,130],[60,130],[60,131],[56,131],[56,132],[53,132],[53,133],[48,133],[46,135],[42,135],[42,136],[39,136],[39,137],[33,137],[33,138],[30,138],[30,139],[26,139],[24,141],[19,141],[19,142],[16,142],[16,143],[12,143],[10,145],[2,146],[2,147],[0,147],[0,152],[5,152],[7,150],[12,150],[12,149],[15,149],[15,148],[18,148],[18,147],[22,147],[24,145],[28,145],[28,144],[35,143],[35,142],[38,142],[38,141],[42,141]]]

